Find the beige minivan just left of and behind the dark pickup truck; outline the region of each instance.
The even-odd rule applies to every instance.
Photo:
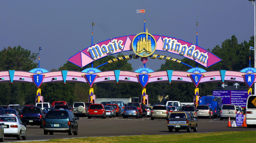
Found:
[[[166,119],[168,120],[170,112],[168,111],[166,105],[156,104],[153,106],[151,111],[151,120],[154,119]]]

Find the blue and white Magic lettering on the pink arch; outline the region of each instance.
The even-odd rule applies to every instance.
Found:
[[[119,40],[117,42],[117,40],[114,39],[114,40],[112,40],[112,42],[109,42],[107,45],[105,45],[105,44],[101,45],[101,47],[98,44],[96,44],[92,47],[89,47],[87,52],[90,53],[92,59],[96,59],[99,56],[102,56],[103,54],[107,54],[107,53],[113,54],[118,49],[123,49],[124,45],[122,45],[122,43],[123,43],[122,40]]]

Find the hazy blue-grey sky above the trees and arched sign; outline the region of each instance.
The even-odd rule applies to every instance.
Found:
[[[254,6],[247,0],[1,0],[0,50],[20,45],[32,53],[40,51],[40,68],[58,69],[67,59],[92,44],[110,38],[137,35],[146,28],[164,35],[213,49],[235,35],[238,42],[254,35]],[[196,26],[196,22],[199,25]],[[248,47],[249,48],[249,47]],[[133,52],[123,53],[130,55]],[[165,52],[155,53],[166,55]],[[116,55],[114,55],[116,56]],[[216,55],[218,56],[218,55]],[[181,60],[182,61],[182,60]],[[35,62],[38,62],[36,60]],[[146,67],[156,71],[164,60],[149,59]],[[143,66],[131,59],[134,70]]]

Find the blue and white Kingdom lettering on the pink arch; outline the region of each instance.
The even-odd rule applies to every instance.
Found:
[[[187,55],[192,56],[194,59],[198,59],[198,61],[202,63],[207,63],[208,55],[204,54],[203,52],[200,52],[199,50],[195,50],[195,45],[191,45],[190,47],[185,45],[181,45],[181,43],[177,42],[175,39],[171,38],[164,38],[163,39],[163,50],[167,51],[175,51],[179,52],[181,56]]]

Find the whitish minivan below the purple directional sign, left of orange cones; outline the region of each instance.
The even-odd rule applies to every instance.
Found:
[[[236,119],[236,105],[234,104],[222,104],[220,120],[223,119]]]

